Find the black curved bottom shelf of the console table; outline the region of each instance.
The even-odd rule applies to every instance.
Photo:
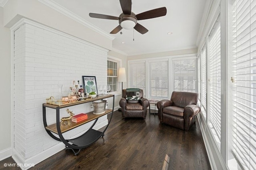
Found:
[[[84,133],[84,135],[77,137],[75,139],[67,140],[67,142],[82,148],[86,147],[87,145],[90,145],[91,143],[94,143],[97,139],[100,138],[101,134],[102,132],[100,131],[89,129],[86,133]]]

